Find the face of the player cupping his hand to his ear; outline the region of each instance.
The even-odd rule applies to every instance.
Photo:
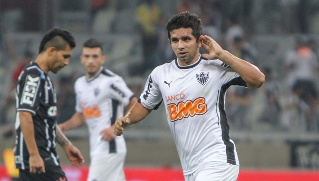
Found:
[[[191,34],[191,28],[170,31],[170,44],[180,65],[190,65],[199,57],[200,42]]]

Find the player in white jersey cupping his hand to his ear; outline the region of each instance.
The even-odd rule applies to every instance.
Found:
[[[116,120],[115,134],[163,102],[185,181],[236,181],[239,161],[229,137],[225,93],[231,85],[259,88],[265,76],[202,35],[196,14],[176,14],[166,29],[177,58],[152,71],[138,103]],[[200,47],[208,52],[200,54]]]

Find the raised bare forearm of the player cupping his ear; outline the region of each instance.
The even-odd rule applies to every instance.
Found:
[[[234,56],[228,51],[221,51],[218,58],[238,72],[246,81],[248,87],[259,88],[265,82],[265,75],[255,65]]]

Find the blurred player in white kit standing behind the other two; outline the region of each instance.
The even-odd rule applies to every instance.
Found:
[[[104,62],[102,43],[94,38],[84,42],[81,63],[86,75],[74,84],[76,113],[59,127],[65,132],[87,124],[91,158],[87,181],[125,181],[126,144],[114,134],[114,123],[137,98],[122,77],[103,68]]]

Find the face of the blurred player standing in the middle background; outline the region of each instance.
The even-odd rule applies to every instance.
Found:
[[[83,64],[89,77],[95,76],[105,62],[105,55],[101,48],[82,48],[81,63]]]

